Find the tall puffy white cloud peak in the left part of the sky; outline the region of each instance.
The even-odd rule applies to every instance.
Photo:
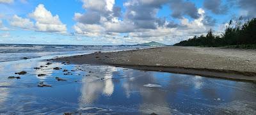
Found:
[[[59,19],[58,15],[52,16],[51,11],[45,9],[44,4],[39,4],[35,11],[29,13],[31,19],[36,20],[35,30],[42,32],[66,33],[67,27]]]

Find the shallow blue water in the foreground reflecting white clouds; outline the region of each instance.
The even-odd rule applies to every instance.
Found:
[[[0,63],[0,114],[256,114],[253,82],[47,62]],[[39,66],[47,67],[34,69]],[[15,75],[20,71],[28,73]]]

